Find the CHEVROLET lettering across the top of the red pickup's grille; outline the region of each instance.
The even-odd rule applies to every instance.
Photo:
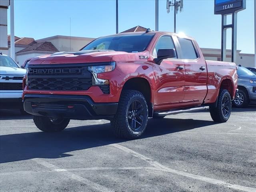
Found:
[[[29,74],[81,74],[82,69],[30,69]]]

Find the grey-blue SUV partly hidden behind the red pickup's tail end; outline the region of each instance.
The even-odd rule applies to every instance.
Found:
[[[242,66],[238,66],[237,74],[238,92],[233,104],[242,108],[250,102],[256,102],[256,75]]]

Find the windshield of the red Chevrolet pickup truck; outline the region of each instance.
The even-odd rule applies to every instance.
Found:
[[[114,50],[128,53],[142,52],[154,34],[132,34],[102,37],[86,45],[82,50]]]

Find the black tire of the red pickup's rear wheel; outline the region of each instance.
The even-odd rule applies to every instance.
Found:
[[[228,99],[227,106],[229,108],[229,112],[227,113],[226,116],[223,114],[223,111],[222,111],[222,105],[223,105],[222,102],[224,101],[225,97],[226,99]],[[232,103],[231,103],[231,97],[228,90],[220,89],[217,105],[214,106],[213,104],[210,106],[210,114],[211,114],[212,120],[214,120],[214,122],[221,122],[221,123],[226,122],[230,117],[231,108],[232,108]]]

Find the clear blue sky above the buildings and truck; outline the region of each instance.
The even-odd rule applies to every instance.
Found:
[[[97,38],[114,34],[115,5],[115,0],[15,0],[15,35],[35,39],[69,36],[70,18],[71,36]],[[137,25],[154,30],[154,0],[119,0],[118,6],[119,32]],[[173,15],[173,10],[166,12],[166,0],[159,0],[160,31],[173,32]],[[184,10],[176,18],[176,32],[194,37],[202,48],[220,48],[221,16],[214,15],[214,0],[184,0]],[[231,30],[227,35],[227,48],[231,48]],[[238,12],[237,49],[254,54],[253,0],[246,0],[246,10]]]

